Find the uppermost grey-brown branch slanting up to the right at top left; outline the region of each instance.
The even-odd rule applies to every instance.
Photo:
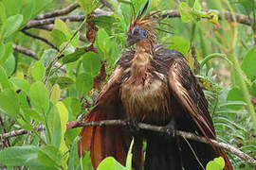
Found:
[[[59,10],[54,10],[48,13],[43,13],[40,15],[37,15],[34,20],[43,20],[46,18],[52,18],[52,17],[56,17],[56,16],[61,16],[61,15],[65,15],[68,14],[70,12],[72,12],[74,9],[79,8],[79,4],[77,2],[71,4],[70,6],[66,7],[66,8],[62,8]]]

